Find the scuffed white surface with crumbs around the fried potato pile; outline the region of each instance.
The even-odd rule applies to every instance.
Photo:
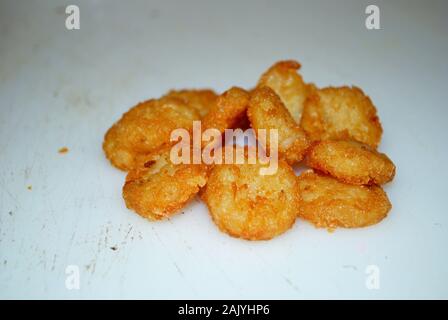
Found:
[[[382,30],[364,26],[371,3]],[[66,4],[81,30],[65,29]],[[448,298],[446,14],[444,1],[0,1],[0,297]],[[285,58],[377,105],[397,165],[386,220],[334,233],[297,221],[246,242],[198,201],[160,223],[125,208],[124,173],[101,150],[124,111],[170,88],[251,87]]]

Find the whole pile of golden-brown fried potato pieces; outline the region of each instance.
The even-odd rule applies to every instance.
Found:
[[[358,87],[306,83],[300,67],[280,61],[249,90],[170,91],[127,111],[103,143],[112,165],[127,172],[126,206],[156,221],[179,213],[199,195],[221,231],[247,240],[272,239],[297,218],[328,230],[384,219],[392,205],[381,185],[392,181],[395,165],[377,151],[383,129],[375,106]],[[215,130],[219,157],[231,150],[245,161],[174,161],[173,130],[192,135],[195,121],[202,130]],[[267,164],[251,157],[253,147],[222,145],[226,129],[249,126],[266,154],[276,148],[274,173],[260,174]],[[273,129],[277,145],[259,134]],[[203,141],[188,146],[207,148]],[[297,176],[298,165],[309,169]]]

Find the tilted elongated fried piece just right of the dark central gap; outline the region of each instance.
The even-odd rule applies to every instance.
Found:
[[[303,159],[309,140],[271,88],[260,87],[252,91],[247,115],[257,138],[268,153],[272,147],[269,131],[277,129],[279,155],[291,165]],[[258,134],[259,129],[267,130],[266,139]]]

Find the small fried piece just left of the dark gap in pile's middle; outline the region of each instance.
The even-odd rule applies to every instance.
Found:
[[[225,129],[237,127],[246,115],[249,93],[241,88],[232,87],[217,100],[209,113],[202,119],[202,130],[214,128],[224,133]]]

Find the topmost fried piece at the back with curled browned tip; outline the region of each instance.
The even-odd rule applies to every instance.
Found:
[[[267,86],[274,90],[293,119],[300,123],[305,100],[315,86],[306,84],[297,72],[298,69],[300,69],[300,63],[297,61],[279,61],[261,76],[257,86]]]

